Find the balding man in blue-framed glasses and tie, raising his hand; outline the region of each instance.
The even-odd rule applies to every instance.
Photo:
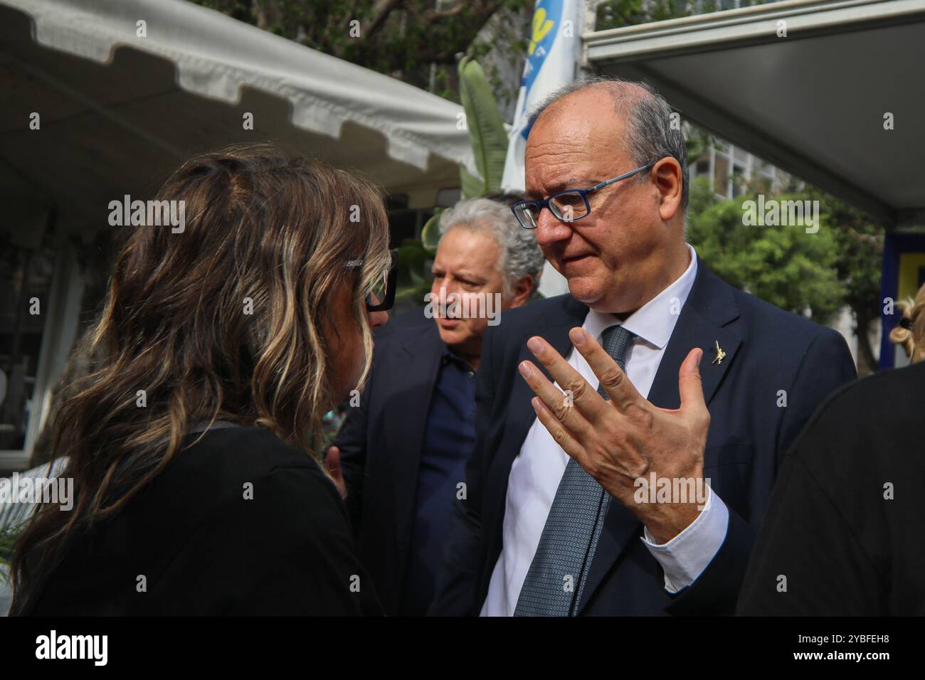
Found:
[[[487,333],[431,612],[731,613],[783,454],[856,377],[850,352],[685,242],[684,137],[648,86],[580,82],[532,122],[514,213],[570,294]]]

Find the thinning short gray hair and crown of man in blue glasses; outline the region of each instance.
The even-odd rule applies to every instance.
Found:
[[[617,114],[626,120],[626,147],[633,158],[636,167],[671,156],[681,164],[681,209],[687,209],[690,197],[688,171],[687,171],[687,145],[685,134],[678,125],[672,128],[672,107],[665,98],[656,92],[648,82],[623,80],[622,78],[602,78],[600,76],[586,76],[573,80],[565,87],[552,93],[545,100],[536,105],[530,114],[528,125],[530,128],[536,119],[549,108],[549,105],[558,101],[566,94],[571,94],[586,87],[600,86],[607,89],[613,97],[614,109]],[[642,88],[639,93],[635,87]],[[642,181],[648,175],[648,170],[636,175]]]

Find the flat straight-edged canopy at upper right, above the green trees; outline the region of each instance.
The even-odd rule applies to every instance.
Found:
[[[925,0],[786,0],[583,40],[590,68],[649,80],[683,117],[888,223],[925,224]]]

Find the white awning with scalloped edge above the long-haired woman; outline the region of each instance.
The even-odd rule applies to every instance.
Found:
[[[56,205],[66,228],[232,142],[280,142],[422,207],[474,169],[461,106],[185,0],[0,0],[0,65],[0,192]]]

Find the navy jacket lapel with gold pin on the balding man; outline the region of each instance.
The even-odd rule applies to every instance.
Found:
[[[673,409],[680,405],[678,369],[687,353],[695,347],[703,350],[700,377],[704,398],[709,402],[733,364],[742,340],[727,324],[738,318],[738,308],[728,286],[716,278],[703,261],[697,258],[697,278],[687,302],[678,316],[672,337],[662,354],[659,370],[649,389],[648,401],[660,408]],[[716,343],[725,356],[716,361]],[[588,571],[579,612],[591,600],[594,591],[611,571],[631,540],[642,536],[642,523],[635,514],[611,499],[610,509],[601,528],[594,562]]]

